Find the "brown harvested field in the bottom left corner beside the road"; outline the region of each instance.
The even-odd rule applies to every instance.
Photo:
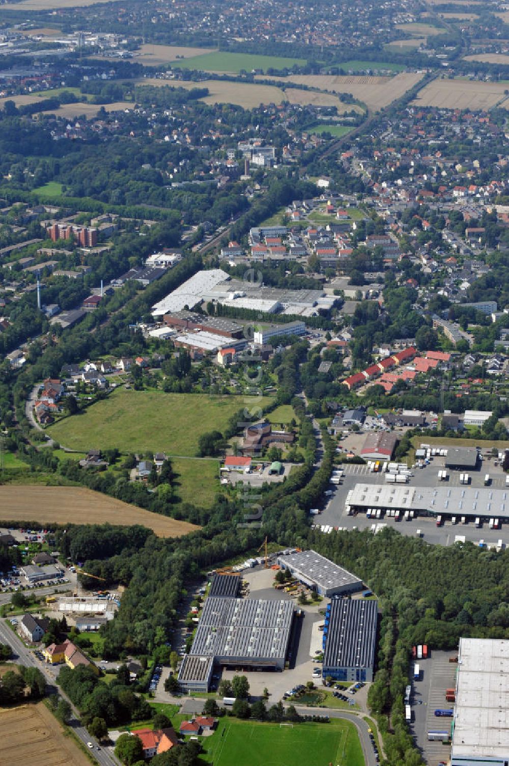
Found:
[[[19,705],[0,709],[0,763],[5,766],[90,766],[80,751],[45,707]]]

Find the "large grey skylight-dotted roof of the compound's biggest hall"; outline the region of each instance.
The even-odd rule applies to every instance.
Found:
[[[284,660],[292,616],[292,601],[209,597],[191,654]]]

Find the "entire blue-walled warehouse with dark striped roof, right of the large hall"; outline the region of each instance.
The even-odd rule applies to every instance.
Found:
[[[334,598],[325,613],[322,676],[335,681],[372,681],[378,602]]]

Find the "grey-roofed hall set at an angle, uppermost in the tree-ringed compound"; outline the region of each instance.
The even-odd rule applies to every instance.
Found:
[[[282,569],[291,571],[295,578],[321,596],[331,597],[362,590],[362,580],[315,551],[280,555],[277,562]]]

